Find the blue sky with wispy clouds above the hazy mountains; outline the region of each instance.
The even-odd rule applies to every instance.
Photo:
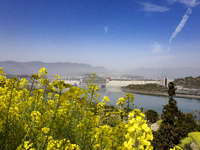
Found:
[[[0,61],[200,68],[198,0],[0,0]]]

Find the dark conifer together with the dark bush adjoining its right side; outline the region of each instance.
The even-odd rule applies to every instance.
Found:
[[[173,99],[176,94],[175,85],[169,83],[169,101],[163,107],[162,123],[157,132],[153,132],[152,145],[156,150],[168,150],[180,143],[189,132],[198,130],[198,125],[191,114],[183,114],[178,110],[177,102]]]

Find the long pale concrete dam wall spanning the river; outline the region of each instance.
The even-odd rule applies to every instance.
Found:
[[[81,79],[64,79],[65,83],[71,84],[72,86],[83,87],[87,86],[89,83],[88,78]],[[168,83],[173,80],[168,79],[167,77],[163,77],[161,80],[159,79],[111,79],[111,78],[97,78],[94,79],[94,84],[99,88],[103,87],[122,87],[130,84],[158,84],[168,87]]]

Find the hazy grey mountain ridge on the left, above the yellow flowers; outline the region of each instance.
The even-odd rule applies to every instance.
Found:
[[[3,68],[5,74],[37,74],[38,71],[45,67],[48,76],[83,74],[83,73],[107,73],[108,70],[104,67],[93,67],[89,64],[78,64],[70,62],[45,63],[41,61],[32,62],[15,62],[15,61],[0,61],[0,67]]]

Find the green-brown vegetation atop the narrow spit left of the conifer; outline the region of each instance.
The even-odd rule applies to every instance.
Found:
[[[130,84],[123,86],[122,88],[133,89],[137,91],[148,91],[148,92],[166,92],[167,87],[158,84]]]

